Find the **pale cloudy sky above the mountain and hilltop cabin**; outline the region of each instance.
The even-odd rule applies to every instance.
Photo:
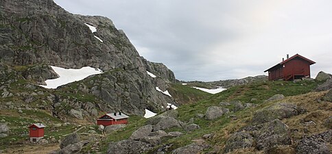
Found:
[[[54,0],[73,14],[106,16],[140,55],[183,81],[268,75],[296,53],[332,73],[332,1]]]

